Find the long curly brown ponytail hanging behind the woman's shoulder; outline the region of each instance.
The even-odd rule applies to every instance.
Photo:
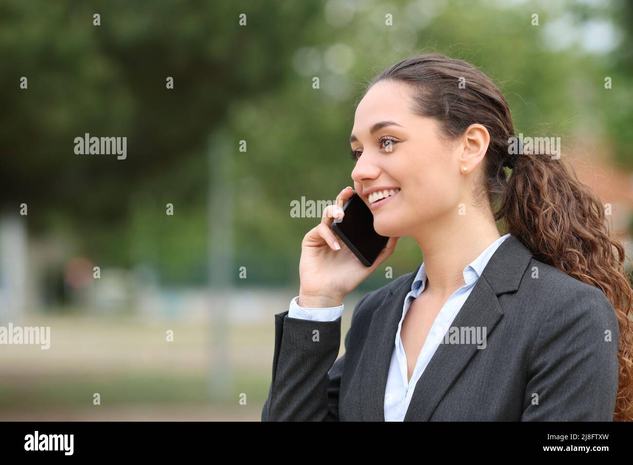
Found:
[[[614,421],[633,419],[633,293],[625,251],[609,231],[603,204],[572,166],[549,154],[518,156],[495,219],[533,256],[599,288],[618,318],[618,395]],[[616,253],[617,252],[617,253]]]

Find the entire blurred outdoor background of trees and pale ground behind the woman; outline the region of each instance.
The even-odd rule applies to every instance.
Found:
[[[320,218],[292,202],[352,185],[356,104],[413,54],[479,66],[517,132],[561,137],[630,255],[632,40],[625,0],[1,0],[0,326],[51,347],[0,345],[0,420],[259,421]],[[75,154],[85,133],[127,158]],[[421,260],[404,237],[384,266]],[[388,282],[346,297],[343,334]]]

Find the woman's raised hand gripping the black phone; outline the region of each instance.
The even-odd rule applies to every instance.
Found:
[[[354,290],[380,266],[396,249],[400,237],[390,237],[372,266],[363,265],[354,252],[339,240],[330,226],[343,218],[342,206],[354,195],[346,187],[336,197],[334,205],[323,211],[321,223],[312,228],[301,242],[299,260],[299,301],[301,307],[337,307],[343,297]],[[335,247],[337,243],[340,249]]]

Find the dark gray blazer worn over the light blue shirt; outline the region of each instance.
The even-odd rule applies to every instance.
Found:
[[[363,296],[339,359],[341,318],[276,314],[261,420],[384,421],[387,371],[417,271]],[[486,327],[486,348],[440,344],[404,421],[613,419],[620,339],[613,306],[598,288],[534,259],[514,236],[494,252],[452,326]]]

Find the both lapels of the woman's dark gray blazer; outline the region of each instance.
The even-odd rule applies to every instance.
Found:
[[[532,254],[520,240],[508,237],[486,264],[451,326],[486,327],[488,337],[503,316],[497,296],[518,289]],[[384,421],[384,399],[391,356],[402,318],[404,298],[420,268],[389,289],[375,309],[358,367],[361,370],[361,416],[363,421]],[[427,421],[453,381],[475,356],[477,344],[440,344],[417,381],[404,421]]]

